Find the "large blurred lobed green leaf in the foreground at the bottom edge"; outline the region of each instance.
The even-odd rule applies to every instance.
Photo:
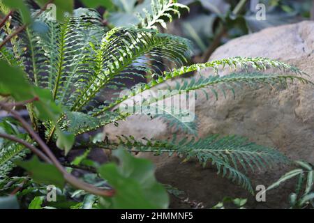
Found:
[[[113,152],[119,166],[105,164],[98,169],[116,194],[104,198],[110,208],[167,208],[169,198],[165,188],[156,181],[154,165],[149,160],[135,158],[124,149]]]

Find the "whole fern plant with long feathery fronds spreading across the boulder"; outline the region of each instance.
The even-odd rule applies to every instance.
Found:
[[[103,26],[100,15],[95,10],[85,8],[74,10],[73,15],[66,16],[63,22],[51,20],[49,12],[33,11],[35,18],[33,26],[27,26],[17,38],[11,39],[10,43],[1,48],[1,60],[6,61],[3,63],[24,70],[24,78],[31,83],[27,86],[29,91],[40,92],[40,97],[45,95],[43,98],[51,99],[51,101],[47,100],[49,105],[40,104],[44,103],[40,97],[39,102],[36,102],[38,98],[35,97],[27,103],[33,130],[40,136],[38,139],[32,133],[31,137],[28,137],[33,139],[29,141],[30,147],[39,144],[50,156],[50,159],[46,159],[47,162],[57,163],[58,168],[60,168],[58,161],[47,151],[43,141],[51,148],[56,148],[57,143],[58,148],[65,150],[65,155],[73,146],[101,147],[110,150],[123,146],[129,151],[151,151],[157,154],[165,152],[176,153],[186,158],[196,157],[202,164],[213,164],[217,167],[218,173],[237,181],[251,193],[253,193],[251,182],[241,169],[244,172],[248,169],[254,171],[279,162],[288,162],[287,158],[276,149],[258,146],[238,136],[211,135],[204,139],[188,139],[187,136],[183,140],[174,137],[170,141],[154,141],[154,139],[137,141],[133,137],[121,137],[118,143],[104,141],[95,144],[71,140],[62,143],[65,138],[73,139],[80,134],[97,130],[103,125],[124,120],[132,114],[114,109],[118,105],[166,83],[167,80],[188,72],[199,72],[204,68],[218,71],[220,68],[229,67],[244,71],[225,76],[214,72],[206,77],[201,75],[178,82],[176,86],[170,86],[170,91],[167,93],[145,100],[145,105],[154,107],[156,102],[170,98],[181,91],[200,90],[206,95],[211,91],[218,98],[220,93],[225,95],[229,93],[228,91],[235,94],[236,90],[243,86],[252,87],[254,90],[261,86],[288,86],[290,82],[311,84],[301,76],[302,72],[298,68],[265,58],[234,57],[186,65],[190,55],[189,41],[178,36],[159,33],[157,29],[157,24],[165,26],[167,20],[171,21],[174,14],[178,15],[180,10],[186,8],[177,1],[154,0],[151,1],[151,12],[145,11],[146,16],[142,17],[140,24],[131,28],[117,27],[111,30]],[[6,6],[3,4],[1,10],[3,14],[7,13]],[[3,27],[1,36],[6,38],[13,32],[15,26],[23,23],[23,17],[15,13],[10,24]],[[174,63],[177,68],[160,70],[165,60]],[[263,71],[269,68],[277,69],[278,73],[265,74]],[[251,72],[252,69],[255,71]],[[127,95],[102,103],[96,100],[98,95],[110,92],[112,89],[125,89],[126,86],[122,82],[124,79],[144,78],[147,74],[153,78],[149,82],[137,84]],[[10,86],[7,85],[10,78],[1,73],[3,83],[0,86],[3,89],[0,93],[8,91],[9,95],[18,101],[23,98],[22,93],[10,91]],[[43,92],[40,91],[42,89]],[[3,103],[1,105],[4,106]],[[149,112],[147,114],[150,115]],[[180,115],[182,114],[168,111],[152,118],[165,118],[170,126],[197,134],[197,123],[183,123],[179,118]],[[15,144],[8,146],[7,143],[6,140],[6,144],[1,146],[0,163],[5,162],[10,165],[8,160],[15,160],[17,153],[20,153],[25,145],[13,148]],[[24,164],[22,167],[26,168],[27,165]],[[2,176],[7,174],[6,168],[1,171]],[[65,172],[62,174],[68,176]],[[105,174],[102,176],[110,178]],[[73,183],[73,178],[70,176],[66,180]],[[88,190],[84,185],[81,186],[87,192],[94,191]],[[118,185],[117,187],[119,190],[120,187]]]

